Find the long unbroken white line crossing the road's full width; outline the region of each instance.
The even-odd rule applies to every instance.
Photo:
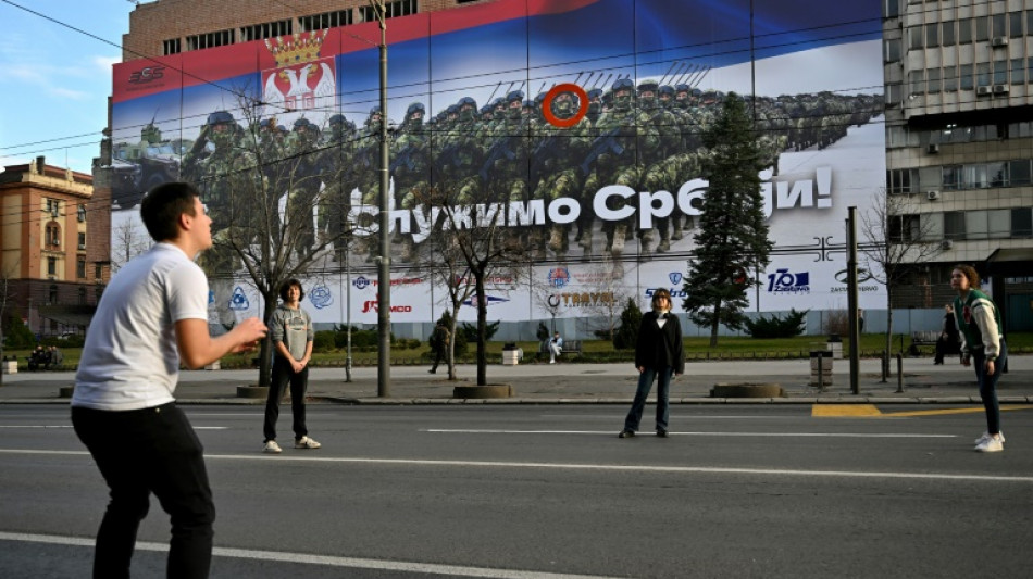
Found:
[[[866,470],[794,470],[781,468],[731,468],[709,466],[650,466],[650,465],[605,465],[605,464],[563,464],[563,463],[503,463],[499,461],[426,461],[415,458],[349,458],[346,456],[312,456],[312,451],[304,451],[306,456],[284,456],[277,454],[206,454],[210,461],[263,461],[290,463],[326,463],[326,464],[371,464],[371,465],[408,465],[431,467],[471,467],[471,468],[542,468],[555,470],[601,470],[628,473],[669,473],[669,474],[702,474],[702,475],[767,475],[775,477],[830,477],[830,478],[885,478],[910,480],[962,480],[983,482],[1033,482],[1033,477],[1004,477],[990,475],[950,475],[946,473],[892,473]],[[45,454],[62,456],[89,456],[86,451],[32,451],[0,449],[0,454]]]

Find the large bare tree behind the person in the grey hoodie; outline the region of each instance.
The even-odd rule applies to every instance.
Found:
[[[184,166],[201,188],[213,219],[213,248],[202,255],[201,265],[212,279],[216,302],[228,303],[228,287],[244,272],[262,297],[263,318],[270,319],[279,287],[332,259],[352,232],[341,226],[348,200],[340,181],[350,162],[340,151],[349,142],[320,143],[320,127],[309,124],[297,130],[298,123],[285,139],[274,118],[262,117],[260,106],[242,100],[239,110],[247,128],[227,119],[226,113],[213,113]],[[224,136],[226,125],[232,138]],[[334,224],[320,223],[331,218]],[[270,340],[262,342],[259,386],[270,383],[271,348]]]

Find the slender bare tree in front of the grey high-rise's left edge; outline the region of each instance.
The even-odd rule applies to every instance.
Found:
[[[893,292],[907,275],[938,254],[938,240],[932,239],[932,224],[916,211],[909,196],[881,191],[869,211],[861,214],[861,235],[869,242],[859,244],[872,278],[886,287],[886,352],[893,348]],[[851,315],[857,315],[856,312]]]

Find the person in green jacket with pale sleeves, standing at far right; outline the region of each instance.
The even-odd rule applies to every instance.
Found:
[[[954,300],[955,319],[961,333],[961,365],[975,367],[980,397],[986,410],[986,431],[975,439],[978,452],[1005,450],[1000,431],[1000,407],[997,380],[1008,360],[1000,336],[1000,313],[990,297],[980,290],[980,275],[971,265],[956,265],[950,272],[950,288],[958,292]]]

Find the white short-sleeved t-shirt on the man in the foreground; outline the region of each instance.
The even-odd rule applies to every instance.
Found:
[[[208,319],[208,278],[183,250],[155,243],[104,289],[86,332],[72,405],[133,411],[175,400],[181,319]]]

